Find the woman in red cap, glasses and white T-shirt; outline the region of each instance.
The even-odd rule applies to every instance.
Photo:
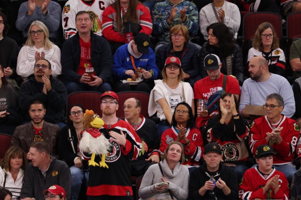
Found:
[[[168,57],[162,70],[163,80],[155,80],[155,87],[151,90],[149,101],[149,115],[157,112],[160,118],[158,133],[170,128],[172,113],[178,103],[186,102],[193,110],[194,96],[189,83],[181,81],[183,70],[181,61],[177,57]]]

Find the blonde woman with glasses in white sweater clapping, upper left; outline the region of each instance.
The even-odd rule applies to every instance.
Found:
[[[49,30],[41,21],[33,21],[28,38],[17,59],[17,74],[27,80],[33,74],[34,63],[46,59],[51,63],[51,75],[62,74],[61,50],[49,40]]]

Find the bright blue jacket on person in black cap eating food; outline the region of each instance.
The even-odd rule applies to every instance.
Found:
[[[155,54],[152,49],[149,47],[149,54],[142,54],[140,58],[134,58],[134,63],[136,68],[142,67],[147,71],[151,69],[154,72],[154,76],[151,79],[156,79],[158,77],[159,69],[156,65]],[[131,54],[128,51],[128,44],[120,46],[116,53],[114,54],[114,76],[117,80],[125,80],[127,78],[131,78],[131,76],[125,75],[125,71],[132,69],[134,70]]]

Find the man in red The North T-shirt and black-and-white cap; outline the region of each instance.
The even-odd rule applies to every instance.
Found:
[[[204,77],[201,80],[198,80],[194,85],[194,98],[195,99],[209,99],[217,91],[225,90],[227,93],[233,93],[237,99],[239,99],[240,89],[239,83],[236,78],[232,76],[225,76],[220,73],[220,68],[222,63],[215,54],[209,54],[204,58],[204,69],[208,73],[208,77]],[[224,77],[226,80],[226,88],[223,89],[223,80]],[[196,119],[197,128],[201,128],[207,120],[213,116],[211,113],[208,116],[208,112],[201,113],[200,103],[196,103],[198,108],[198,117]]]

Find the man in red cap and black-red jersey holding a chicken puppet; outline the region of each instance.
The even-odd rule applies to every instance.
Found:
[[[107,168],[90,166],[87,184],[88,200],[133,200],[131,163],[141,150],[141,140],[129,123],[116,117],[119,98],[115,92],[101,95],[100,108],[104,125],[100,132],[110,139],[110,151],[105,157]],[[83,152],[85,160],[92,154]],[[94,161],[100,162],[100,155]]]

